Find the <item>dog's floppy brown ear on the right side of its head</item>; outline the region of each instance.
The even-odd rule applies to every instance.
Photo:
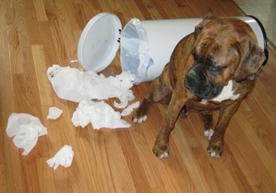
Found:
[[[235,71],[235,81],[241,82],[250,76],[253,76],[256,71],[262,66],[265,60],[265,55],[261,47],[252,41],[246,39],[244,43],[240,44],[241,60],[239,66]]]

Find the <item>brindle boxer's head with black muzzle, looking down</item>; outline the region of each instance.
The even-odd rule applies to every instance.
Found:
[[[229,80],[246,80],[264,62],[264,52],[244,21],[209,14],[195,27],[194,34],[194,64],[185,86],[199,98],[215,98]]]

